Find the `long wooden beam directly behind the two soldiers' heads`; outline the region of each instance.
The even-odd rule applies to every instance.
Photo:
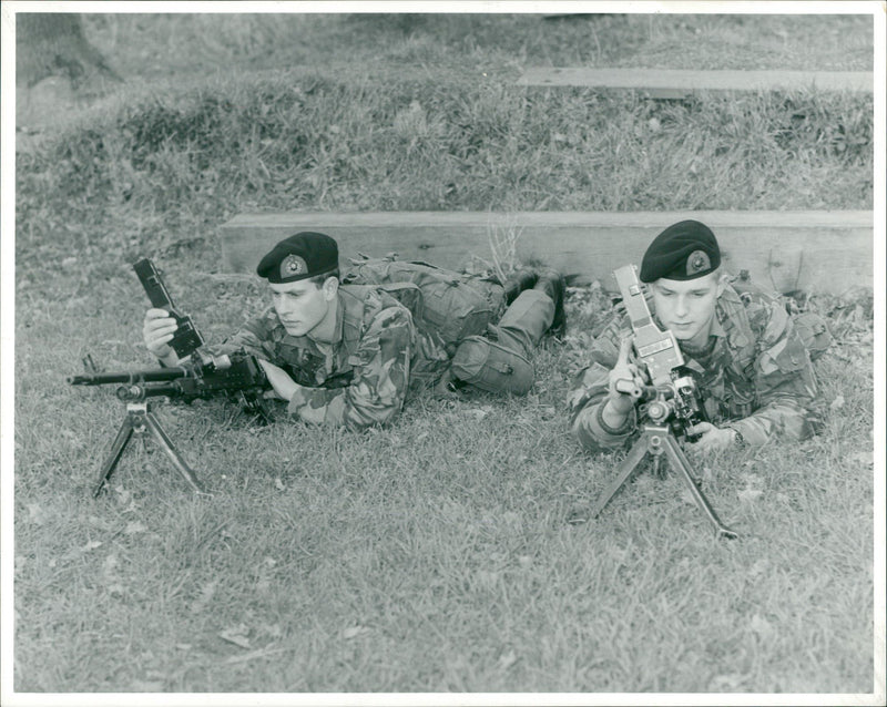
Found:
[[[640,263],[666,226],[695,218],[717,236],[726,267],[747,269],[782,291],[840,294],[874,287],[871,212],[287,212],[241,214],[221,227],[225,267],[253,273],[275,243],[299,230],[339,242],[343,266],[358,253],[420,259],[461,269],[472,256],[491,260],[490,236],[516,234],[518,258],[542,260],[578,281]]]

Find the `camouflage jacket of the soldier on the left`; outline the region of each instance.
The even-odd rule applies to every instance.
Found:
[[[286,332],[273,307],[215,347],[243,349],[283,368],[299,386],[287,404],[306,422],[360,429],[384,424],[401,409],[414,365],[439,375],[448,357],[418,336],[409,310],[375,287],[338,290],[336,338],[332,344]]]

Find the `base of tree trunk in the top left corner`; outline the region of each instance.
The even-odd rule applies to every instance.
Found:
[[[86,41],[79,14],[16,13],[16,82],[20,88],[31,88],[47,76],[64,76],[77,89],[96,72],[122,81]]]

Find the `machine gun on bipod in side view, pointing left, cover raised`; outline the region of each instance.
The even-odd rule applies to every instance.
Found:
[[[182,459],[154,416],[153,400],[167,398],[176,402],[191,403],[198,399],[221,397],[239,402],[246,412],[267,422],[271,420],[271,413],[264,393],[271,386],[265,369],[254,356],[236,351],[213,357],[201,351],[203,337],[194,327],[191,317],[175,309],[160,271],[147,259],[140,260],[133,267],[145,286],[151,304],[167,309],[171,314],[174,312],[180,329],[176,330],[171,345],[174,344],[173,348],[180,357],[190,357],[190,360],[171,368],[104,373],[96,370],[92,358],[88,356],[84,359],[88,372],[68,378],[68,382],[72,386],[116,385],[118,399],[126,403],[126,417],[111,444],[111,452],[102,462],[93,495],[98,496],[101,493],[133,436],[144,439],[149,434],[166,453],[191,488],[197,493],[206,493],[196,474]]]

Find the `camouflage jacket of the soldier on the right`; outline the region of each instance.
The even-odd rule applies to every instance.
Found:
[[[616,315],[595,339],[593,362],[580,371],[569,396],[573,432],[589,449],[623,444],[638,429],[636,409],[619,430],[600,417],[620,341],[630,334],[628,315]],[[710,347],[700,355],[685,347],[682,352],[699,373],[705,411],[714,424],[728,422],[752,445],[775,436],[799,440],[813,433],[816,377],[804,341],[778,299],[762,293],[741,297],[727,286],[717,298]]]

